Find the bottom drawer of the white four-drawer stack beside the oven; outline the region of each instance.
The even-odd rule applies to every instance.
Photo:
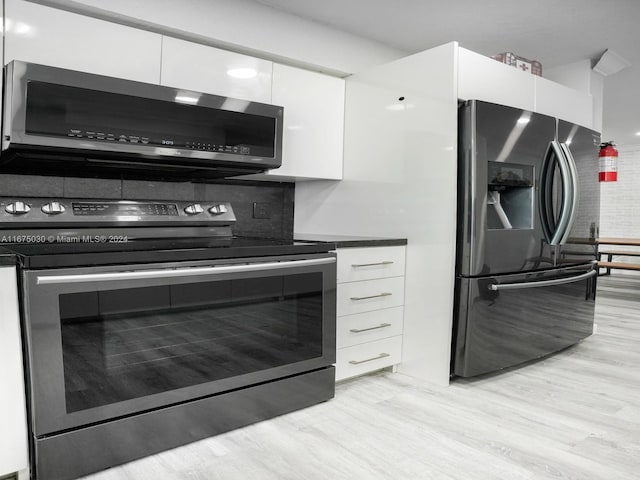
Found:
[[[401,359],[402,335],[340,348],[336,355],[336,381],[395,365]]]

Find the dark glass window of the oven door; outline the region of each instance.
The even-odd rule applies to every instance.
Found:
[[[322,272],[60,293],[58,306],[67,413],[323,355]]]

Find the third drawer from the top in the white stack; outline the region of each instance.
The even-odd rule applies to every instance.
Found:
[[[338,317],[337,348],[402,335],[403,312],[403,307],[393,307]]]

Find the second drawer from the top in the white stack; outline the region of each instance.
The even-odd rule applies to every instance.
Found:
[[[380,278],[338,285],[338,316],[404,304],[404,277]]]

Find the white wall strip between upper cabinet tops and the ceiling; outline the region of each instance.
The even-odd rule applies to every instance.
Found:
[[[31,1],[338,75],[406,54],[251,0]]]

